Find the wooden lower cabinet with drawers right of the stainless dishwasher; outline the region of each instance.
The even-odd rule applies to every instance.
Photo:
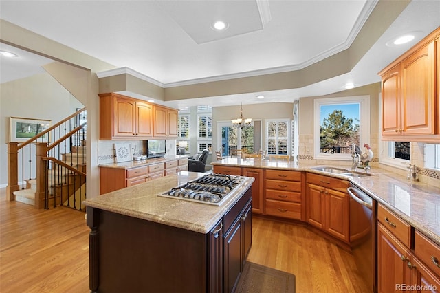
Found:
[[[440,247],[381,205],[377,221],[377,292],[440,292]]]

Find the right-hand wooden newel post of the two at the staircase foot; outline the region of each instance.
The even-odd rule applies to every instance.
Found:
[[[46,197],[46,182],[47,182],[47,142],[37,142],[36,144],[36,192],[35,192],[35,207],[48,208],[48,202],[45,203]]]

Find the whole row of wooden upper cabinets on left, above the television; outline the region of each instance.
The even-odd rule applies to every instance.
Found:
[[[169,129],[175,129],[175,137],[177,137],[177,110],[164,108],[175,113],[175,116],[164,121],[156,120],[157,106],[148,102],[114,93],[99,96],[100,139],[148,139],[155,137],[156,128],[168,129],[168,133]],[[170,137],[170,135],[157,136]]]

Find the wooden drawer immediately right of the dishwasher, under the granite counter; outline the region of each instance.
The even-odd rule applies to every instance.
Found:
[[[410,247],[411,227],[409,224],[382,205],[379,205],[377,208],[377,221],[380,221],[382,225],[392,232],[406,247]]]

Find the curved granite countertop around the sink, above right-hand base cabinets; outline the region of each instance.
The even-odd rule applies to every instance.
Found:
[[[211,164],[307,171],[349,180],[440,246],[440,190],[435,186],[423,182],[410,182],[404,176],[380,168],[371,169],[372,176],[349,177],[318,171],[313,169],[314,166],[299,168],[293,162],[285,161],[223,158]],[[349,169],[349,167],[343,168]]]

